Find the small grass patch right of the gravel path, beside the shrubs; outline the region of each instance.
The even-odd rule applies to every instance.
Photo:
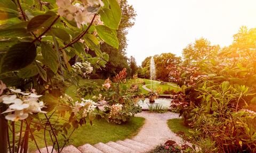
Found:
[[[167,121],[168,127],[172,132],[177,133],[182,131],[188,137],[190,135],[189,128],[183,124],[183,118],[173,118]]]

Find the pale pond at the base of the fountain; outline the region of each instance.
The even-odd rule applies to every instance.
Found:
[[[155,103],[149,103],[149,98],[146,98],[144,101],[139,100],[138,104],[142,107],[142,110],[148,110],[148,105],[156,105],[160,104],[165,108],[170,109],[172,99],[170,98],[157,98],[155,99]]]

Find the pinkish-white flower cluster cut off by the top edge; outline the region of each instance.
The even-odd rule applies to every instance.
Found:
[[[90,23],[93,15],[97,13],[100,7],[104,6],[101,0],[57,0],[57,5],[60,7],[58,13],[67,20],[75,20],[77,27]]]

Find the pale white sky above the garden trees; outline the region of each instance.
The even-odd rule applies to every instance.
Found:
[[[127,0],[137,13],[127,35],[127,56],[173,53],[204,37],[228,46],[239,28],[256,28],[256,0]]]

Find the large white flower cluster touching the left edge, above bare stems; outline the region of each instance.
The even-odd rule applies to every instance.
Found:
[[[29,114],[46,113],[41,110],[45,107],[43,101],[38,101],[38,98],[42,95],[36,95],[31,92],[21,92],[20,89],[10,89],[10,92],[9,95],[4,95],[1,98],[4,104],[9,105],[9,108],[2,113],[9,113],[5,116],[6,120],[25,120]],[[10,114],[10,112],[12,114]]]

